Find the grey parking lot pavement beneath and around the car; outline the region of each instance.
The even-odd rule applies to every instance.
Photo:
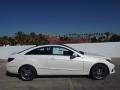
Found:
[[[0,62],[0,90],[120,90],[120,59],[114,59],[116,73],[104,80],[87,76],[38,77],[25,82],[6,75],[5,64]]]

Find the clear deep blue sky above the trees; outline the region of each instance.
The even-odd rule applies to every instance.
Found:
[[[0,36],[120,33],[120,0],[0,0]]]

